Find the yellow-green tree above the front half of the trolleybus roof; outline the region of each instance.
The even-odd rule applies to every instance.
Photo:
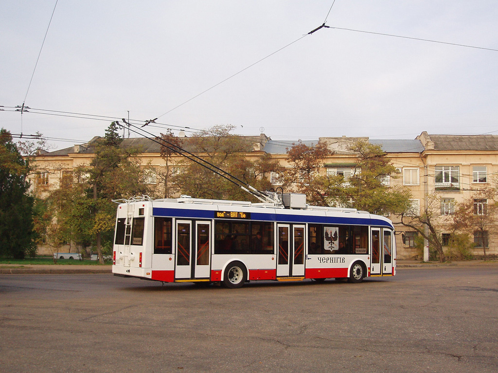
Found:
[[[380,145],[359,140],[348,150],[358,154],[356,171],[348,180],[342,175],[328,177],[326,192],[331,201],[378,215],[401,214],[411,206],[407,189],[384,183],[396,177],[396,168]]]

